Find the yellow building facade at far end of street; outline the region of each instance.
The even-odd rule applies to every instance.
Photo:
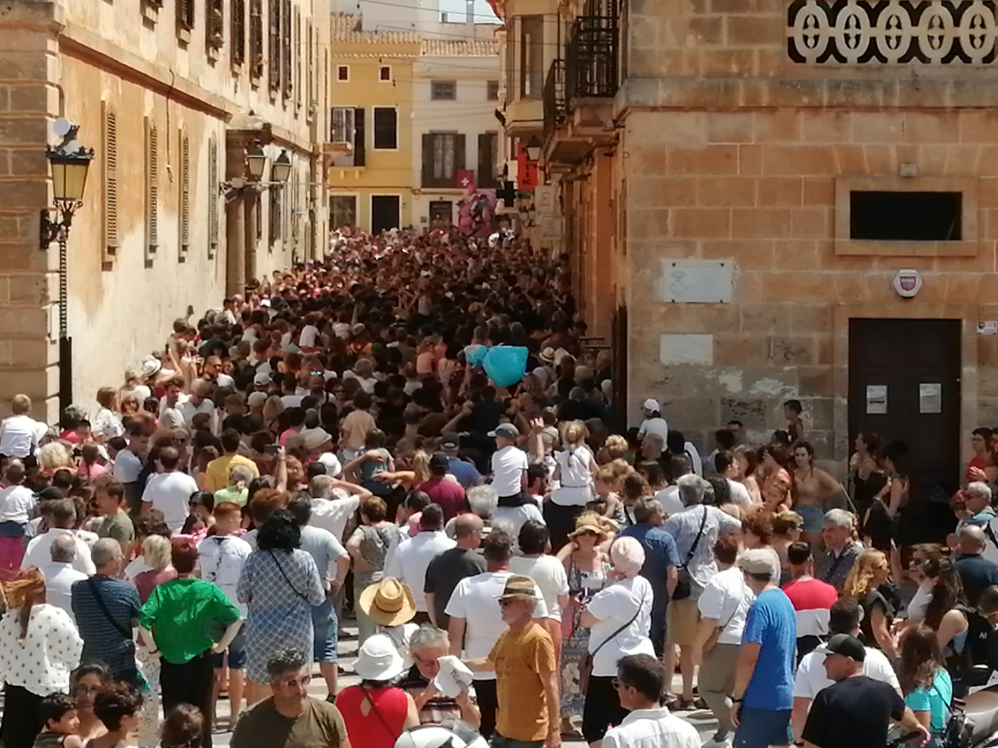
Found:
[[[364,31],[331,17],[330,226],[379,231],[412,225],[412,83],[419,36]]]

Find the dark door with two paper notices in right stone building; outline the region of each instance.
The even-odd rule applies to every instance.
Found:
[[[849,446],[873,432],[908,448],[911,498],[902,540],[952,529],[960,479],[960,321],[849,320]],[[948,525],[948,527],[946,527]]]

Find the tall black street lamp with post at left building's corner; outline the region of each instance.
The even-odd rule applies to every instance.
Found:
[[[59,240],[59,406],[65,410],[73,403],[73,343],[67,325],[68,257],[66,241],[73,224],[73,214],[83,204],[87,172],[94,159],[94,149],[86,149],[76,140],[80,128],[67,120],[52,126],[63,139],[58,147],[49,146],[45,156],[52,165],[52,204],[54,210],[42,210],[39,240],[48,249]]]

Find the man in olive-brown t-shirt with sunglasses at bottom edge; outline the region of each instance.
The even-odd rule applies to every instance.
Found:
[[[350,748],[339,710],[308,695],[304,653],[282,649],[266,663],[273,695],[240,720],[232,748]]]

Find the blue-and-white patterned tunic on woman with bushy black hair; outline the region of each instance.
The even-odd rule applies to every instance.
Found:
[[[254,551],[236,593],[247,603],[247,677],[266,683],[266,661],[286,647],[312,656],[312,605],[325,601],[314,559],[304,551]]]

